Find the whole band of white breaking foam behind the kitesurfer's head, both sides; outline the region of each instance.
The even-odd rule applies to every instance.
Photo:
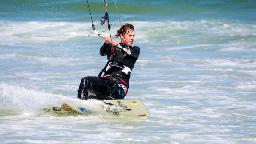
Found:
[[[125,22],[123,22],[125,23]],[[252,24],[223,24],[221,27],[219,25],[222,22],[218,21],[184,21],[184,22],[175,22],[175,21],[162,21],[162,22],[143,22],[143,21],[132,21],[129,22],[134,24],[136,27],[135,43],[151,43],[156,42],[158,37],[161,38],[162,43],[165,41],[168,42],[167,37],[172,37],[173,42],[178,42],[180,38],[187,36],[186,32],[190,31],[193,33],[202,33],[206,36],[248,36],[255,35],[255,25]],[[148,24],[150,23],[150,24]],[[1,30],[1,44],[21,44],[28,42],[45,42],[45,41],[66,41],[70,38],[76,36],[85,36],[91,32],[91,27],[89,22],[15,22],[15,21],[2,21],[0,22]],[[147,25],[145,27],[145,25]],[[201,25],[194,27],[195,25]],[[227,25],[229,25],[227,27]],[[28,29],[29,27],[29,29]],[[96,25],[98,31],[102,28],[100,25]],[[116,31],[118,27],[113,26],[112,31]],[[184,33],[177,33],[176,31],[180,30]],[[196,32],[197,31],[197,32]],[[152,34],[154,36],[152,37]],[[104,35],[105,33],[103,33]],[[91,35],[95,36],[95,35]],[[152,39],[153,38],[153,39]],[[175,40],[176,39],[176,40]],[[180,39],[180,41],[183,41]],[[158,42],[157,42],[158,43]],[[169,42],[168,42],[169,43]],[[209,46],[210,44],[199,45],[200,47]],[[191,48],[191,47],[187,47]],[[195,47],[194,47],[195,48]],[[175,49],[175,48],[174,48]],[[226,49],[227,50],[227,49]]]

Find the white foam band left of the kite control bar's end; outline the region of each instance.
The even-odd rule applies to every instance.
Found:
[[[2,45],[62,41],[89,33],[88,29],[83,29],[85,23],[3,21],[0,24]]]

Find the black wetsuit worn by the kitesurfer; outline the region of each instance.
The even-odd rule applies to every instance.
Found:
[[[125,48],[125,45],[120,43]],[[77,97],[79,99],[123,99],[129,88],[129,79],[134,64],[140,54],[139,47],[129,46],[131,55],[126,54],[119,48],[112,49],[110,44],[103,44],[100,48],[100,55],[107,56],[109,67],[104,71],[103,77],[84,77],[78,89]],[[95,95],[89,95],[94,93]]]

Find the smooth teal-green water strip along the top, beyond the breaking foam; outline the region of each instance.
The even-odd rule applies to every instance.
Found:
[[[255,22],[254,0],[106,0],[110,19],[186,21],[228,19]],[[104,16],[102,0],[89,0],[93,18]],[[86,0],[1,0],[1,20],[90,21]]]

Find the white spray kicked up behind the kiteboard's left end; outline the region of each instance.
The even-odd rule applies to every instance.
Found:
[[[75,100],[24,87],[0,84],[0,115],[35,115],[41,112],[40,108]]]

